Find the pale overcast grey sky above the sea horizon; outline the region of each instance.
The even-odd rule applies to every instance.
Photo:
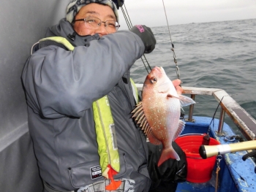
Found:
[[[256,0],[164,0],[169,25],[256,18]],[[132,25],[167,26],[162,0],[125,0]],[[121,9],[120,29],[127,29]]]

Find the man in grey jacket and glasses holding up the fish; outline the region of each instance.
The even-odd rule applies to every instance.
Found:
[[[105,179],[112,171],[122,182],[116,191],[129,191],[124,183],[137,192],[149,189],[146,138],[130,114],[136,103],[129,69],[156,41],[146,26],[117,31],[117,22],[113,1],[73,0],[67,17],[48,28],[46,37],[58,38],[40,40],[23,69],[29,131],[45,191],[103,191],[113,182]],[[181,93],[179,83],[173,82]],[[110,139],[118,149],[113,164],[120,167],[115,172],[108,162],[105,177],[96,110],[103,96],[114,122]]]

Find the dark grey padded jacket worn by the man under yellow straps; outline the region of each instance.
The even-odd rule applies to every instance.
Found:
[[[135,126],[129,69],[143,55],[140,37],[118,31],[74,36],[61,20],[46,37],[64,37],[75,50],[54,42],[39,44],[23,69],[29,131],[43,180],[60,191],[75,190],[103,180],[92,179],[99,167],[92,102],[108,95],[115,122],[121,171],[115,179],[135,180],[135,191],[148,191],[146,137]]]

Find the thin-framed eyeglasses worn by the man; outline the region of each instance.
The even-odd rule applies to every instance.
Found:
[[[102,25],[102,23],[105,23],[105,28],[109,33],[116,32],[118,30],[118,28],[120,27],[120,25],[114,20],[106,20],[104,22],[104,21],[100,20],[99,18],[94,18],[94,17],[90,17],[90,16],[87,18],[74,20],[74,22],[80,21],[80,20],[83,20],[84,23],[86,24],[86,27],[91,28],[91,29],[97,29],[97,28],[99,28],[99,26]]]

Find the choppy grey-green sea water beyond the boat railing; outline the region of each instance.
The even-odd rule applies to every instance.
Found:
[[[157,39],[154,51],[145,54],[151,68],[162,66],[170,80],[177,78],[171,37],[183,86],[221,88],[256,118],[256,19],[169,27],[171,36],[167,26],[151,28]],[[141,60],[131,71],[136,83],[143,83],[148,74]],[[213,96],[196,96],[195,101],[193,115],[213,117],[218,105]]]

